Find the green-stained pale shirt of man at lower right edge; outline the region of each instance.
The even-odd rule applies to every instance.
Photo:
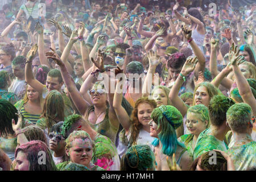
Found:
[[[250,142],[227,151],[237,171],[256,169],[256,142]]]

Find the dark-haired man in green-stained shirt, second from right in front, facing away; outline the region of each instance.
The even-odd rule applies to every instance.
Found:
[[[210,100],[208,110],[211,125],[209,129],[204,130],[197,138],[193,152],[194,160],[201,154],[214,149],[228,150],[228,146],[224,142],[225,135],[230,130],[229,126],[226,125],[226,112],[234,104],[231,98],[225,96],[214,96]]]

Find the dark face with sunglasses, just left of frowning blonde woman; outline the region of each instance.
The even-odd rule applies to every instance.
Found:
[[[60,134],[49,133],[49,149],[54,152],[64,151],[65,150],[65,142],[64,138]]]

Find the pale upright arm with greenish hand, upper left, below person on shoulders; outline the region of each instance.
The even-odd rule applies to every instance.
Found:
[[[45,64],[49,68],[51,68],[48,63],[46,53],[44,53],[44,29],[39,22],[36,22],[35,31],[38,32],[38,56],[40,59],[40,63],[42,65]]]

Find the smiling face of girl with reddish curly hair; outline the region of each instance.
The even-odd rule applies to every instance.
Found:
[[[148,126],[148,122],[151,120],[150,116],[152,111],[153,107],[146,102],[138,105],[138,119],[143,126]]]

